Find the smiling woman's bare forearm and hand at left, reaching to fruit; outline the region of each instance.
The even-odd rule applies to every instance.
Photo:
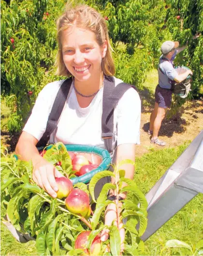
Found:
[[[26,131],[20,135],[15,152],[21,160],[32,160],[33,180],[52,197],[57,197],[58,185],[55,177],[62,176],[54,165],[40,156],[36,144],[38,140]]]

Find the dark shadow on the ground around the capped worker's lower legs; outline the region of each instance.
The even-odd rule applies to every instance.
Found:
[[[165,118],[161,123],[159,136],[172,137],[174,132],[182,133],[186,130],[186,126],[189,125],[185,119],[181,118],[181,114],[176,115],[170,119]],[[145,123],[143,130],[147,132],[149,129],[149,122]]]

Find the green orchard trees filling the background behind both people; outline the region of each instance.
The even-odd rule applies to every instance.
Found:
[[[203,31],[202,1],[82,2],[96,8],[106,19],[118,78],[142,89],[146,72],[158,66],[161,43],[175,39],[184,45],[188,40],[188,49],[176,57],[176,64],[193,71],[189,95],[201,96],[203,38],[192,40],[192,36]],[[61,79],[54,75],[58,48],[56,20],[65,3],[65,0],[1,1],[1,95],[10,105],[11,114],[4,126],[10,132],[21,130],[43,86]],[[181,19],[177,20],[177,15]],[[184,102],[176,97],[174,112]]]

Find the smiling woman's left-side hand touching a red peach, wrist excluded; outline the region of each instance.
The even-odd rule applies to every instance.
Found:
[[[49,163],[40,155],[32,159],[32,178],[44,191],[52,197],[57,197],[58,185],[55,177],[63,176],[53,164]]]

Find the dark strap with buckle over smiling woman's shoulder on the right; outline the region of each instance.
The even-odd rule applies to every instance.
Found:
[[[111,91],[111,94],[106,97],[103,96],[102,139],[104,139],[105,148],[109,152],[114,150],[112,147],[114,139],[114,109],[120,98],[128,89],[133,88],[137,90],[135,86],[124,82],[119,83],[113,88],[114,89]]]

